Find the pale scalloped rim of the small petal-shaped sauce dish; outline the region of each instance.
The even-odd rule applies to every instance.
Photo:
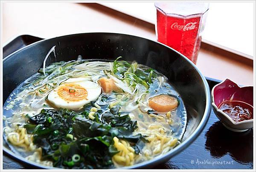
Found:
[[[249,120],[244,120],[244,121],[240,121],[240,122],[235,122],[232,120],[232,118],[230,116],[228,116],[226,113],[224,113],[222,110],[220,110],[217,105],[215,104],[214,101],[214,90],[218,85],[223,84],[224,82],[226,82],[227,80],[233,82],[231,79],[226,78],[224,79],[222,82],[218,83],[217,85],[215,85],[214,87],[212,87],[212,106],[214,107],[215,110],[217,110],[218,113],[221,113],[221,115],[225,116],[225,118],[227,118],[233,125],[240,125],[240,124],[246,124],[246,123],[251,123],[253,122],[253,119],[249,119]],[[252,85],[245,85],[245,86],[239,86],[236,82],[233,82],[235,85],[237,85],[237,87],[239,88],[244,88],[244,87],[253,87]],[[253,106],[252,106],[253,107]],[[216,114],[217,115],[217,114]]]

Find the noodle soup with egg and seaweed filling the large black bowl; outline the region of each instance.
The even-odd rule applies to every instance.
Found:
[[[109,169],[148,161],[180,144],[186,109],[158,71],[113,62],[55,62],[4,104],[12,150],[47,166]]]

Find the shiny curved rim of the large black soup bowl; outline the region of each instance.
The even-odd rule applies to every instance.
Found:
[[[181,142],[181,144],[179,144],[177,147],[170,150],[169,152],[166,152],[163,155],[159,155],[157,157],[154,157],[151,160],[143,161],[141,163],[134,164],[132,166],[125,166],[125,167],[115,168],[115,169],[140,169],[140,168],[143,168],[143,167],[146,167],[146,166],[153,166],[153,164],[154,165],[160,164],[161,162],[165,162],[165,161],[169,160],[171,157],[174,157],[175,155],[180,153],[183,149],[186,149],[190,144],[192,144],[192,142],[195,141],[195,139],[198,137],[198,135],[201,134],[201,132],[203,131],[205,125],[207,124],[209,116],[210,116],[210,111],[211,111],[211,98],[210,98],[210,96],[211,96],[211,94],[210,94],[209,85],[208,85],[208,82],[207,82],[205,76],[201,73],[201,71],[196,67],[196,65],[192,61],[190,61],[186,56],[184,56],[180,52],[176,51],[175,49],[173,49],[173,48],[171,48],[171,47],[169,47],[169,46],[167,46],[167,45],[165,45],[161,42],[157,42],[155,40],[139,37],[137,35],[112,33],[112,32],[87,32],[87,33],[79,33],[79,34],[69,34],[69,35],[63,35],[63,36],[59,36],[59,37],[52,37],[52,38],[48,38],[48,39],[43,39],[43,40],[40,40],[38,42],[34,42],[30,45],[27,45],[23,48],[20,48],[19,50],[17,50],[15,52],[13,52],[12,54],[9,54],[8,56],[6,56],[6,58],[3,59],[3,65],[4,65],[4,62],[6,62],[6,60],[9,59],[10,57],[12,57],[14,54],[17,54],[18,52],[23,51],[26,48],[32,47],[32,46],[34,46],[36,44],[39,44],[41,42],[45,42],[45,41],[52,40],[52,39],[59,39],[59,38],[63,38],[63,37],[75,37],[75,36],[85,35],[85,34],[124,35],[124,36],[129,36],[129,37],[137,37],[137,38],[140,38],[140,39],[145,39],[147,41],[154,42],[156,44],[160,44],[160,45],[162,45],[166,48],[171,49],[172,51],[175,51],[175,53],[179,54],[182,58],[184,58],[187,62],[189,62],[190,65],[192,65],[192,67],[195,68],[195,70],[197,70],[199,76],[201,77],[201,79],[203,81],[203,85],[204,85],[204,93],[205,93],[205,96],[206,96],[204,114],[202,116],[202,119],[201,119],[200,123],[198,124],[198,126],[194,130],[194,132],[191,135],[189,135],[189,137],[186,138],[186,140]],[[28,161],[24,157],[15,154],[11,150],[7,149],[6,147],[3,147],[3,151],[6,152],[7,154],[9,154],[10,156],[12,156],[13,158],[17,159],[18,161],[23,161],[23,163],[26,163],[26,164],[29,164],[29,165],[32,165],[32,166],[36,166],[36,167],[44,168],[44,169],[61,169],[61,168],[56,168],[56,167],[51,167],[51,166],[45,166],[45,165],[38,164],[38,163],[33,162],[33,161]]]

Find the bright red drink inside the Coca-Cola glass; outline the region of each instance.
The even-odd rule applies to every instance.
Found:
[[[162,3],[156,3],[158,41],[174,48],[188,57],[192,62],[196,63],[198,50],[201,44],[204,13],[188,14],[187,16],[174,13],[169,14],[165,13],[165,11],[170,10],[170,6],[182,6],[182,4],[169,3],[167,6],[163,5],[164,4]],[[175,12],[177,12],[177,8],[175,8]]]

